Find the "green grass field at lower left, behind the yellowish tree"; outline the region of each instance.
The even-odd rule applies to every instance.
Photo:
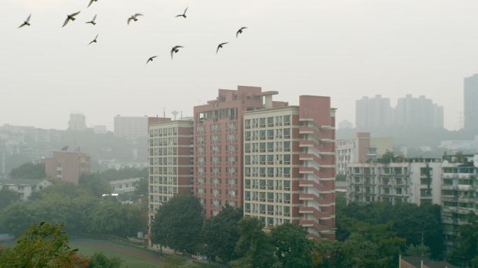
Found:
[[[141,248],[115,244],[110,241],[76,239],[70,241],[71,248],[78,248],[82,256],[91,256],[95,252],[103,252],[108,257],[118,257],[123,260],[122,267],[156,268],[164,263],[164,258],[154,255]]]

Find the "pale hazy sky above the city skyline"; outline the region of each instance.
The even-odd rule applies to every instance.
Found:
[[[217,89],[241,84],[291,104],[331,96],[338,121],[355,121],[362,96],[394,105],[426,95],[454,129],[463,77],[478,73],[476,0],[88,1],[1,0],[0,125],[64,129],[82,112],[89,126],[111,129],[115,114],[191,115]],[[174,17],[187,6],[186,20]],[[31,27],[17,29],[29,13]],[[133,13],[145,16],[127,26]],[[95,14],[96,27],[85,24]],[[174,45],[184,49],[172,61]]]

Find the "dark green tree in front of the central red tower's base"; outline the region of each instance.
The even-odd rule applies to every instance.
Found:
[[[217,216],[205,222],[203,237],[205,255],[210,260],[219,258],[229,262],[234,257],[234,248],[239,239],[238,223],[242,218],[242,209],[224,207]]]

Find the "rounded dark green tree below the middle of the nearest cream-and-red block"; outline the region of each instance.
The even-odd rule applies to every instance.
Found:
[[[298,225],[286,223],[273,228],[272,244],[282,267],[312,268],[312,241]]]

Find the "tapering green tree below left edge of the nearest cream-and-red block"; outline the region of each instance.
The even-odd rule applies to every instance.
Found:
[[[274,255],[271,237],[262,230],[263,223],[255,217],[245,217],[238,224],[239,240],[235,253],[238,260],[230,262],[233,267],[269,268],[281,267]]]

